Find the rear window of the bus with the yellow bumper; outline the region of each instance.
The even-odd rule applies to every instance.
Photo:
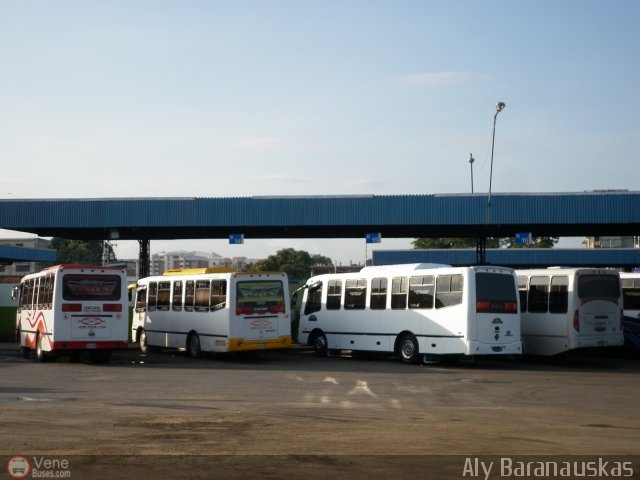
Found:
[[[236,314],[284,313],[284,289],[282,282],[247,281],[236,285]]]

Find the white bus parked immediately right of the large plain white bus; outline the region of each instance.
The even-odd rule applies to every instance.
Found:
[[[516,270],[516,275],[525,355],[624,343],[617,271],[547,268]]]

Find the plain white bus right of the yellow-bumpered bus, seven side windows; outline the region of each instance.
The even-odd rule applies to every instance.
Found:
[[[324,274],[303,287],[298,340],[328,351],[440,356],[521,354],[518,290],[503,267],[434,264]]]

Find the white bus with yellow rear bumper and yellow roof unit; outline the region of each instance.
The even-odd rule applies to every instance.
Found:
[[[138,280],[132,339],[144,352],[250,352],[291,347],[285,273],[168,270]]]

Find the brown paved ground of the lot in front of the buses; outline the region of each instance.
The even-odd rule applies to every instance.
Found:
[[[304,349],[39,364],[0,344],[0,460],[67,459],[72,478],[245,479],[462,478],[468,461],[522,455],[628,460],[640,452],[639,374],[640,360],[619,356],[410,366]]]

